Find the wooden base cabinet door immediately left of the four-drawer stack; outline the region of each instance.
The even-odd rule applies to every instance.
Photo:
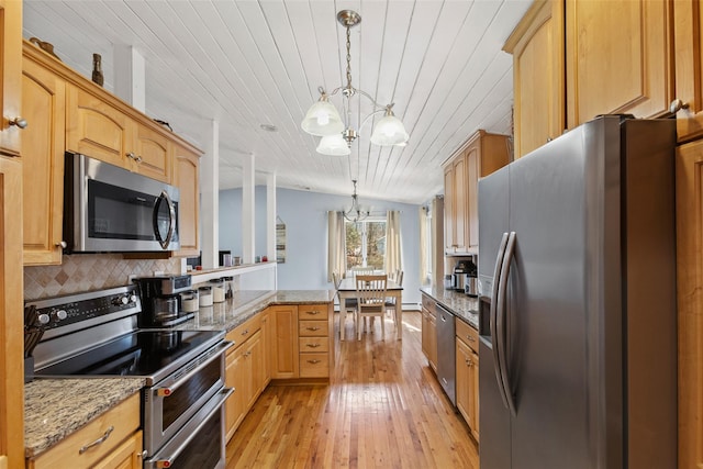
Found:
[[[271,323],[269,364],[271,379],[293,379],[299,376],[298,306],[280,304],[268,308]]]

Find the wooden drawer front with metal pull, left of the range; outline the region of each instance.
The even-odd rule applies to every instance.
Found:
[[[140,394],[137,393],[96,417],[58,445],[30,460],[27,467],[34,469],[91,467],[107,457],[138,427]],[[91,446],[101,438],[104,438],[102,443]]]

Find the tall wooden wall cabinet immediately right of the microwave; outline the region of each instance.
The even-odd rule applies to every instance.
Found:
[[[172,145],[174,186],[180,190],[178,203],[178,236],[180,249],[177,256],[199,256],[198,234],[200,205],[199,172],[200,155],[180,145]]]

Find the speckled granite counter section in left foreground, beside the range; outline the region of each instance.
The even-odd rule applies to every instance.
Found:
[[[142,378],[35,379],[24,384],[24,454],[36,456],[145,384]]]

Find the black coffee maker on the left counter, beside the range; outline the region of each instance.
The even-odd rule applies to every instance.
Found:
[[[141,277],[134,282],[140,286],[142,300],[140,327],[169,327],[194,316],[193,312],[183,311],[180,299],[181,293],[191,290],[189,275]]]

